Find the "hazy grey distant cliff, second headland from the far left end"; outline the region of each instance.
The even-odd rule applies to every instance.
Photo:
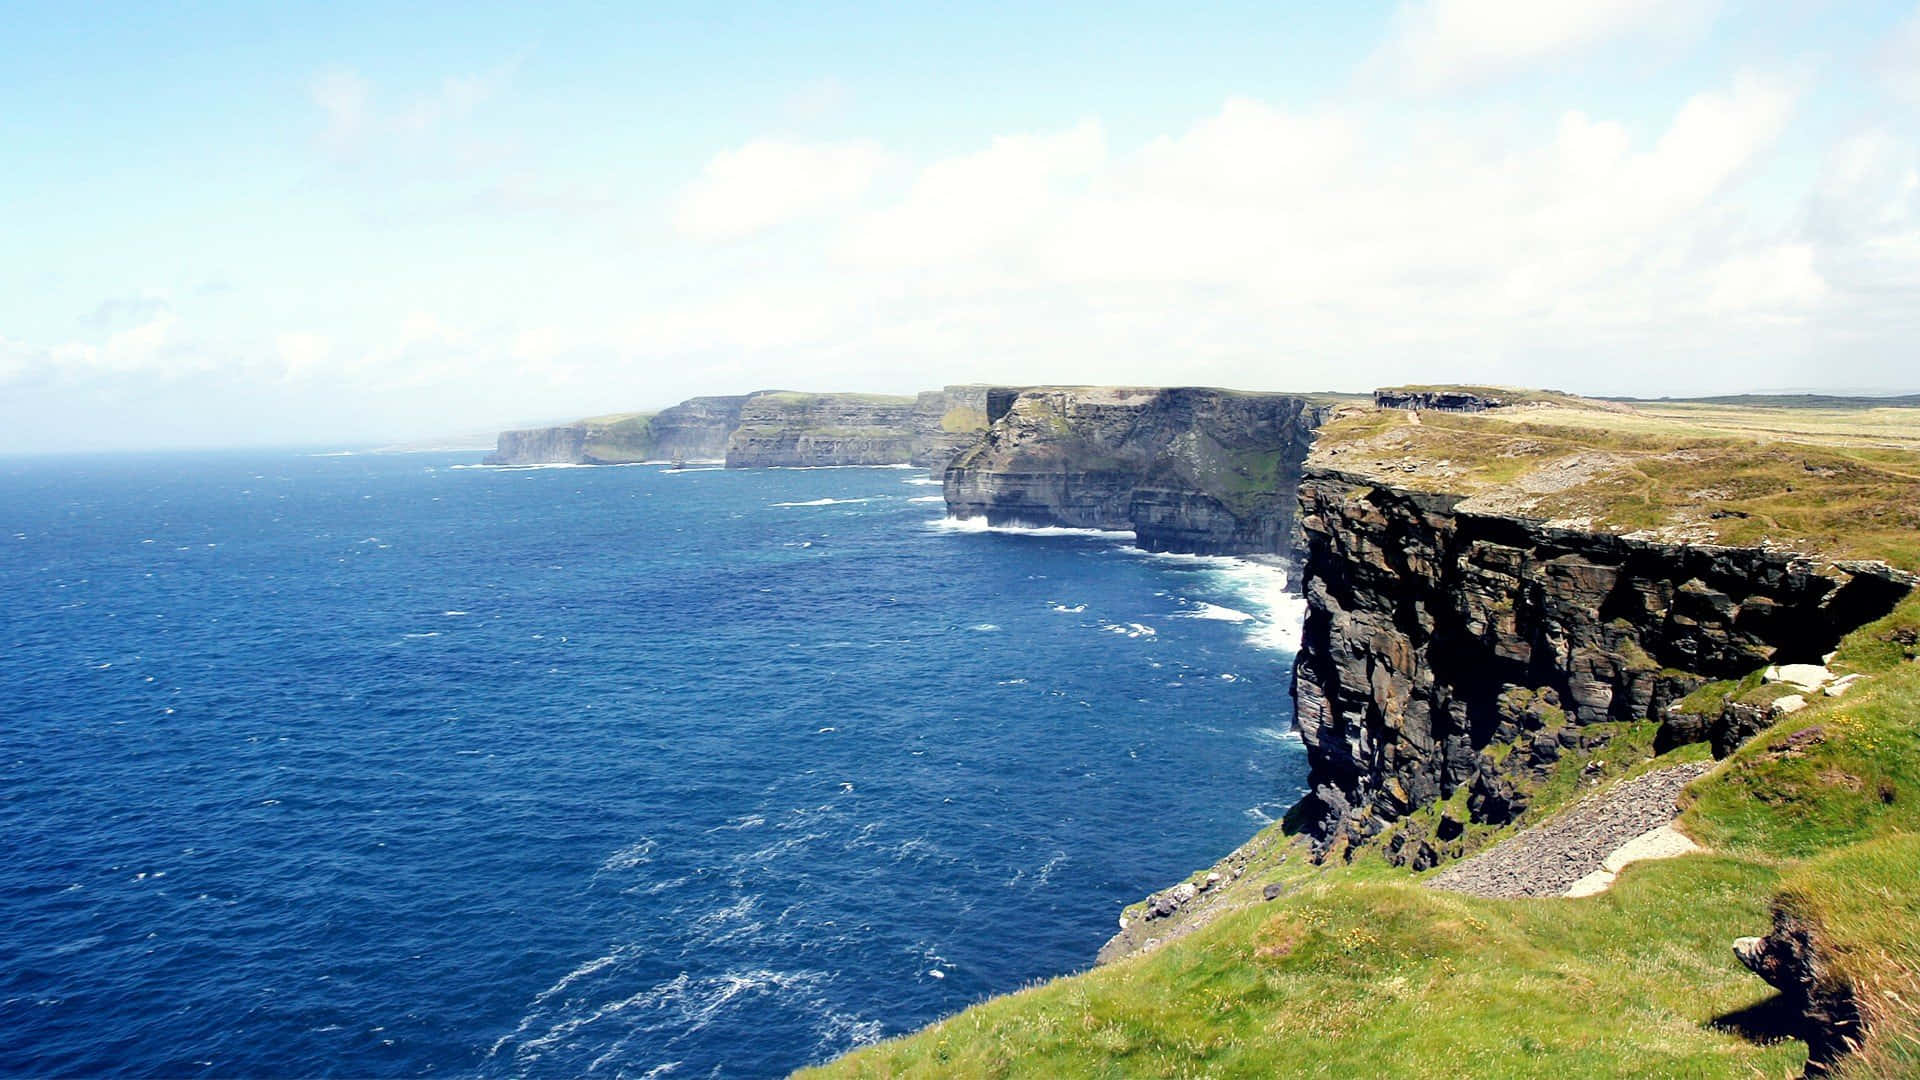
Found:
[[[914,454],[914,398],[755,394],[728,440],[728,469],[904,465]]]

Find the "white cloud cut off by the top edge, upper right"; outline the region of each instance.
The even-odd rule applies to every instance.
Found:
[[[1511,75],[1626,37],[1688,35],[1713,0],[1407,0],[1373,67],[1419,92]]]

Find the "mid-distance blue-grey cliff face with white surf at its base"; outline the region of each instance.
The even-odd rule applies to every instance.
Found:
[[[1288,553],[1327,409],[1206,388],[993,390],[947,469],[947,509],[995,525],[1133,530],[1150,552]]]

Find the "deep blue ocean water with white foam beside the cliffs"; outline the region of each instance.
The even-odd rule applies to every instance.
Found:
[[[780,1074],[1302,790],[1273,569],[470,461],[0,461],[0,1074]]]

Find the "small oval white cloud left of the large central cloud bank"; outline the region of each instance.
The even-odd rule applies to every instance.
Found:
[[[674,227],[701,240],[732,240],[843,206],[887,165],[877,142],[756,138],[716,154],[674,208]]]

